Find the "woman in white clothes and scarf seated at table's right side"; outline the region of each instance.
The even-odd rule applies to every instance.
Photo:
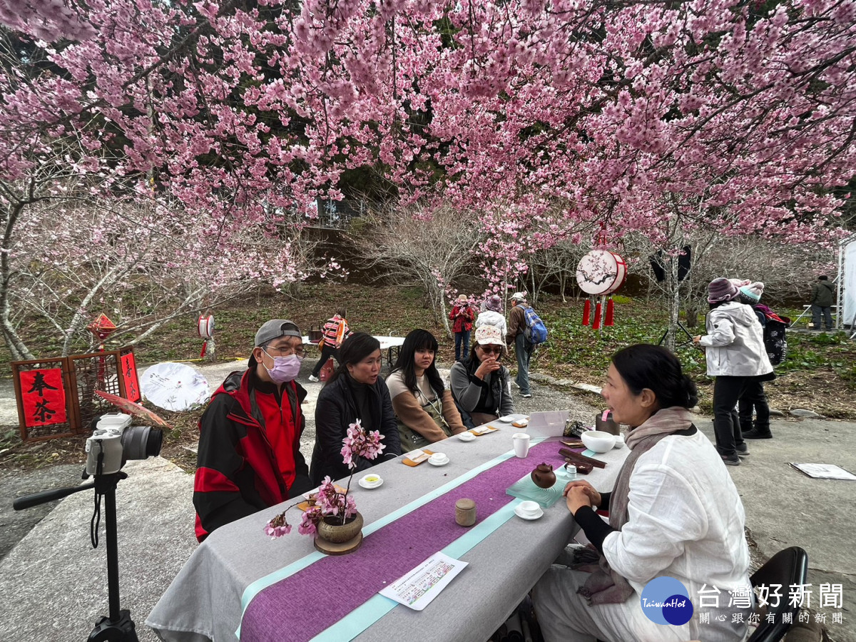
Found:
[[[615,421],[630,426],[630,455],[611,493],[586,481],[565,487],[568,510],[599,556],[574,550],[567,559],[574,569],[554,565],[538,580],[533,600],[544,639],[742,640],[752,612],[743,504],[713,444],[693,425],[687,408],[697,401],[695,384],[666,348],[635,345],[613,357],[602,395]],[[609,524],[592,506],[609,509]],[[586,563],[593,573],[575,570]],[[679,580],[693,603],[681,626],[656,624],[641,607],[645,585],[665,576]],[[708,606],[708,591],[718,607]],[[709,619],[699,623],[705,612]]]

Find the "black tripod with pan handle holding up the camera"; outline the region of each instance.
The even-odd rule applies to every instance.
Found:
[[[86,477],[86,473],[84,473]],[[83,484],[74,488],[43,490],[34,495],[18,497],[13,502],[15,510],[38,506],[55,499],[62,499],[80,492],[95,489],[95,514],[92,515],[92,546],[98,547],[98,517],[101,513],[101,496],[104,496],[104,526],[107,532],[107,594],[110,600],[110,615],[95,622],[87,642],[138,642],[134,621],[128,609],[119,609],[119,547],[116,535],[116,485],[128,475],[118,471],[107,475],[95,475],[92,484]]]

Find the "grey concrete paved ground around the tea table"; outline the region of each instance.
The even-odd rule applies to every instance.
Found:
[[[200,370],[213,389],[225,374],[242,366],[219,364]],[[301,443],[307,458],[314,443],[312,417],[321,388],[320,383],[306,380],[312,366],[314,362],[306,360],[300,376],[300,383],[309,391],[309,421]],[[542,383],[545,379],[534,377],[532,399],[521,399],[515,392],[518,412],[570,408],[578,419],[591,421],[597,408],[587,401],[597,402],[596,398],[565,387],[552,388]],[[8,403],[4,396],[0,395],[0,413]],[[9,425],[0,421],[2,424]],[[698,427],[713,437],[709,418],[699,417]],[[789,461],[835,463],[856,472],[856,424],[781,419],[773,422],[773,432],[774,439],[750,443],[752,455],[746,463],[728,468],[743,497],[747,526],[765,557],[791,545],[808,551],[811,607],[825,613],[833,642],[856,642],[856,562],[852,555],[856,548],[856,485],[810,479],[788,466]],[[54,473],[0,474],[0,496],[4,497],[0,524],[4,528],[9,523],[12,496],[79,480],[78,470],[49,470]],[[131,610],[140,640],[154,642],[155,636],[142,622],[196,545],[193,477],[159,457],[128,462],[124,470],[129,477],[117,491],[122,608]],[[42,514],[33,518],[38,524],[0,562],[0,594],[4,597],[0,640],[86,639],[98,616],[107,613],[103,515],[102,543],[93,550],[89,541],[92,491],[76,493],[56,504],[44,519]],[[821,583],[842,585],[841,609],[820,606]],[[830,624],[835,612],[841,613],[843,624]]]

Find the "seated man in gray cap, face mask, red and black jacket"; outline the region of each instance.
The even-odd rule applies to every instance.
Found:
[[[300,454],[306,390],[294,379],[304,348],[297,324],[256,332],[247,370],[232,372],[199,419],[193,483],[196,538],[312,488]]]

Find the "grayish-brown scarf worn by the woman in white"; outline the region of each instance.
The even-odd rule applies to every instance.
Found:
[[[674,406],[658,410],[638,428],[632,428],[625,442],[630,455],[624,460],[615,488],[609,498],[609,526],[616,531],[627,524],[627,503],[630,496],[630,478],[639,457],[651,450],[663,437],[683,431],[693,425],[693,418],[687,408]],[[577,591],[592,604],[620,604],[633,595],[633,586],[620,574],[609,568],[609,562],[597,550],[591,548],[574,551],[574,563],[571,568],[591,573],[586,584]]]

